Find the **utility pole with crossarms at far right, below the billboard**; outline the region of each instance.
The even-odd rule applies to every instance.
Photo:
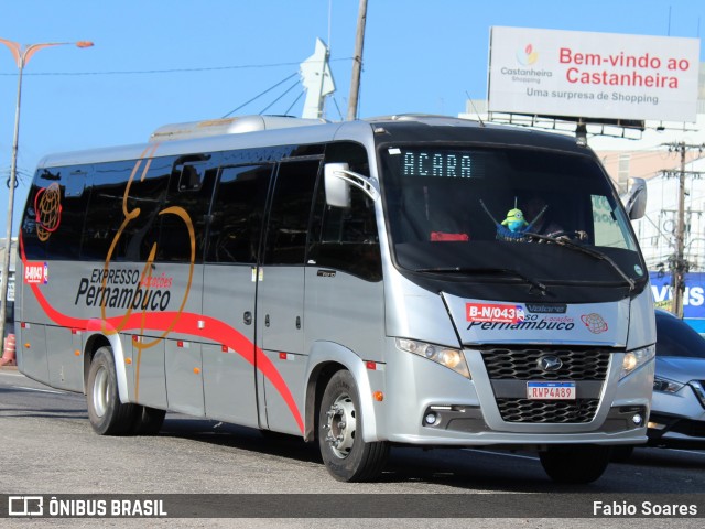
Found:
[[[698,149],[701,152],[705,148],[705,144],[693,145],[685,142],[671,143],[669,145],[670,151],[677,151],[681,154],[681,171],[677,173],[673,171],[662,171],[662,174],[666,176],[679,177],[679,208],[677,220],[675,226],[675,256],[671,264],[673,294],[671,312],[677,317],[683,317],[683,294],[685,293],[685,273],[688,270],[688,263],[684,258],[685,248],[685,176],[686,175],[699,175],[698,171],[685,171],[685,154],[691,149]]]

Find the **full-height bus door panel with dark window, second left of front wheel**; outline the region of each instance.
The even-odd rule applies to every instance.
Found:
[[[257,262],[272,168],[269,163],[220,169],[204,266],[203,313],[218,327],[214,334],[206,330],[209,339],[202,349],[206,415],[253,428],[260,427]]]

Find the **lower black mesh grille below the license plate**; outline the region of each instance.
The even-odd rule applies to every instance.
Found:
[[[590,422],[598,403],[599,399],[497,399],[499,412],[505,421],[530,423]]]

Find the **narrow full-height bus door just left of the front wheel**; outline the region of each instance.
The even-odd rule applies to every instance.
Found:
[[[258,283],[258,345],[264,356],[258,365],[260,421],[292,434],[303,433],[304,257],[319,168],[319,159],[280,164]]]

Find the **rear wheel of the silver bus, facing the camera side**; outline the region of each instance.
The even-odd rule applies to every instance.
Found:
[[[100,347],[90,363],[86,386],[88,419],[100,435],[130,433],[134,423],[134,404],[123,404],[118,395],[118,377],[110,347]]]

